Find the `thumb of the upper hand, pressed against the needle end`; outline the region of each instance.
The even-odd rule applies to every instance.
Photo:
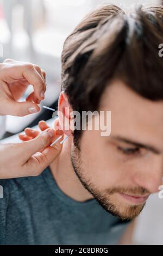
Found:
[[[5,106],[5,111],[9,115],[16,115],[17,117],[23,117],[24,115],[39,112],[40,110],[39,106],[29,101],[17,102],[9,99]]]

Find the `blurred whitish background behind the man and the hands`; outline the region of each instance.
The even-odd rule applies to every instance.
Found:
[[[140,4],[163,4],[159,0],[0,0],[0,44],[3,46],[0,62],[13,58],[40,65],[47,74],[47,92],[42,105],[57,107],[60,93],[60,56],[67,35],[80,20],[99,4],[113,3],[123,9]],[[3,56],[2,56],[3,55]],[[26,95],[32,87],[28,88]],[[21,99],[24,100],[24,99]],[[41,108],[27,117],[7,116],[0,126],[2,143],[17,141],[17,133],[33,127],[40,120],[52,118],[52,111]],[[11,137],[16,135],[14,137]],[[137,220],[134,243],[163,245],[163,199],[155,194]]]

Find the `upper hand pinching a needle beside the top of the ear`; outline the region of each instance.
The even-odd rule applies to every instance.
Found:
[[[37,104],[45,98],[46,91],[46,73],[38,65],[17,62],[12,59],[6,59],[0,64],[0,80],[4,83],[7,90],[3,95],[2,114],[24,115],[39,112],[40,107]],[[26,102],[17,102],[22,96],[29,84],[32,84],[34,92],[31,93]],[[11,94],[11,96],[9,96]]]

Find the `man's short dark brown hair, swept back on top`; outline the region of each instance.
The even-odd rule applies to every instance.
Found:
[[[61,90],[73,110],[95,111],[112,78],[120,78],[150,100],[163,99],[163,7],[124,13],[102,5],[86,15],[67,37],[61,55]],[[77,145],[81,131],[74,131]]]

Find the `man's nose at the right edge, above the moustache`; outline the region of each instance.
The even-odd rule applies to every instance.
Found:
[[[133,181],[150,193],[159,192],[159,186],[163,182],[163,156],[155,156],[148,163],[142,164],[135,173]]]

